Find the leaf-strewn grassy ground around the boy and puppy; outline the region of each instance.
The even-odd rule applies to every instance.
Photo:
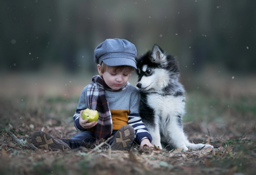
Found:
[[[195,86],[186,94],[185,133],[191,142],[209,143],[213,149],[184,152],[134,145],[130,151],[113,151],[95,143],[62,152],[33,149],[31,135],[36,130],[56,138],[78,133],[72,116],[87,82],[72,79],[76,83],[71,85],[71,77],[36,77],[1,77],[6,83],[0,88],[0,174],[256,174],[254,78],[204,74],[194,83],[184,81],[186,87]]]

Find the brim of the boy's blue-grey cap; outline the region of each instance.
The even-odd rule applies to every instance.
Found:
[[[108,66],[119,66],[119,65],[129,65],[137,69],[136,63],[133,59],[130,58],[106,58],[102,60],[104,64]]]

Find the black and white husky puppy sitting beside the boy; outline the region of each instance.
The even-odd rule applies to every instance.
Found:
[[[178,81],[179,68],[175,57],[154,45],[152,51],[136,58],[141,100],[139,113],[152,135],[152,144],[162,149],[162,143],[174,148],[206,148],[211,145],[194,144],[183,132],[185,90]],[[213,147],[213,146],[211,146]]]

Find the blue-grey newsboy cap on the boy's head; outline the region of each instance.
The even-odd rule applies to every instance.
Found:
[[[137,50],[133,43],[125,39],[106,39],[94,50],[94,62],[108,66],[130,65],[136,67]]]

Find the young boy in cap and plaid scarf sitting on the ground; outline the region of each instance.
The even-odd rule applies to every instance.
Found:
[[[35,132],[32,142],[36,147],[70,150],[96,139],[110,139],[113,150],[127,150],[133,141],[140,146],[152,147],[152,137],[144,126],[138,112],[139,92],[128,82],[130,74],[137,69],[135,46],[125,39],[106,39],[94,51],[94,61],[100,76],[94,76],[79,99],[74,118],[75,127],[81,133],[71,139],[59,140],[44,132]],[[87,123],[82,112],[97,110],[99,119]]]

